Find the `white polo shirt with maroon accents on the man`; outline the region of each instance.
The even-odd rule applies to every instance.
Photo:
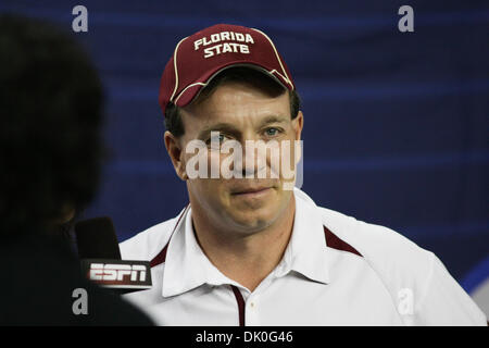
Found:
[[[153,287],[125,298],[159,325],[487,325],[432,252],[294,197],[284,258],[252,293],[209,261],[187,207],[121,244],[152,265]]]

